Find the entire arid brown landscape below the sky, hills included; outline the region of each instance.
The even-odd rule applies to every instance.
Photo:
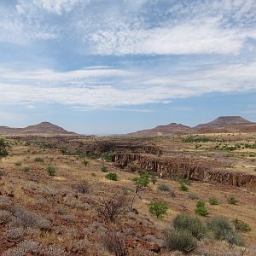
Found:
[[[256,255],[253,122],[0,134],[1,255]]]

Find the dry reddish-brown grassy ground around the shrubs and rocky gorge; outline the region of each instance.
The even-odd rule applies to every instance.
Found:
[[[227,143],[229,146],[255,141],[254,134],[218,134],[218,137],[212,134],[207,137],[224,139],[220,144]],[[159,146],[164,155],[189,154],[216,158],[229,170],[256,175],[255,149],[218,150],[214,147],[219,142],[184,143],[183,138],[155,137],[150,139],[150,143]],[[83,142],[83,139],[79,141]],[[197,144],[201,146],[195,147]],[[86,166],[83,160],[88,161]],[[48,166],[55,168],[54,176],[49,176],[46,171]],[[118,180],[108,180],[105,177],[108,172],[101,172],[102,166],[106,166],[108,172],[116,173]],[[1,255],[31,255],[22,254],[26,251],[24,247],[38,247],[43,255],[110,255],[102,246],[101,237],[106,230],[112,229],[125,235],[129,255],[182,255],[165,248],[158,251],[157,247],[161,247],[164,230],[168,229],[172,218],[178,213],[194,215],[198,200],[205,201],[210,212],[208,217],[200,217],[203,221],[223,217],[230,220],[238,218],[249,224],[252,230],[242,233],[246,241],[246,252],[243,255],[256,255],[255,191],[191,181],[189,191],[184,192],[180,190],[177,181],[157,178],[155,184],[150,184],[136,197],[134,207],[137,213],[125,212],[114,223],[108,223],[98,215],[95,207],[97,201],[122,194],[131,200],[135,191],[131,178],[137,177],[137,173],[124,172],[101,158],[63,155],[57,148],[42,148],[20,140],[12,140],[12,150],[8,157],[1,160],[0,172],[0,210],[1,203],[4,205],[4,201],[8,201],[6,218],[13,218],[8,212],[20,211],[23,214],[28,211],[36,214],[31,218],[38,223],[24,229],[15,226],[13,219],[3,221],[6,218],[0,214]],[[88,186],[86,194],[79,193],[77,189],[83,180]],[[160,184],[165,184],[170,190],[160,191]],[[197,199],[190,199],[193,197],[191,195]],[[227,202],[230,195],[238,200],[236,205]],[[208,203],[211,197],[218,199],[218,206]],[[148,203],[151,201],[166,201],[168,211],[163,218],[155,218],[148,212]],[[11,210],[15,207],[21,210]],[[200,241],[200,246],[191,255],[242,255],[242,252],[242,247],[230,250],[226,242],[206,238]]]

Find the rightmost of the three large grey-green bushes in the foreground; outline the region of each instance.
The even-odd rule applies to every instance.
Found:
[[[225,240],[226,235],[233,232],[233,227],[225,218],[211,218],[207,220],[207,227],[217,240]]]

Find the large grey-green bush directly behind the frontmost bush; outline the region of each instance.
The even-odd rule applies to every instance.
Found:
[[[172,225],[175,230],[188,230],[197,239],[201,239],[207,232],[206,225],[199,218],[187,214],[178,214],[176,218],[173,218]]]

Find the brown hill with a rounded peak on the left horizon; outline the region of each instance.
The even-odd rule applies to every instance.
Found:
[[[42,122],[38,125],[30,125],[25,128],[10,128],[7,126],[0,126],[0,134],[73,134],[73,132],[66,131],[58,125],[49,122]]]

